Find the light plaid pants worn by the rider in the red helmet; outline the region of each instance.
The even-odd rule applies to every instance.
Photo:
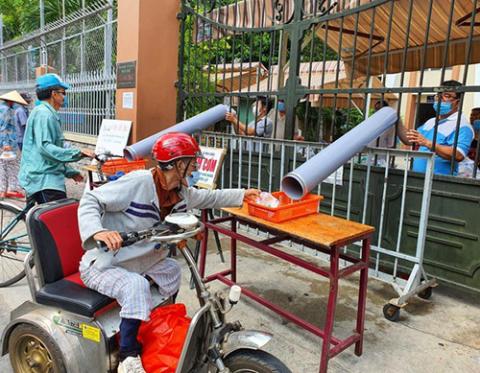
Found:
[[[120,317],[146,321],[153,304],[150,284],[145,276],[155,281],[160,295],[170,297],[180,288],[181,269],[176,260],[166,258],[143,274],[122,267],[99,270],[91,265],[80,275],[87,287],[117,300],[121,306]]]

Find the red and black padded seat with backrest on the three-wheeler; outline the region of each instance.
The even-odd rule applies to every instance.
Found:
[[[78,201],[39,205],[27,218],[40,288],[35,300],[87,317],[115,302],[85,287],[78,266],[84,253],[78,230]]]

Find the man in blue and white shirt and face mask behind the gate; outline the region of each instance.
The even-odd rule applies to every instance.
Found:
[[[442,86],[460,87],[462,84],[455,80],[443,82]],[[454,175],[457,173],[458,162],[461,162],[468,154],[473,139],[473,128],[467,118],[462,114],[458,127],[457,147],[454,148],[457,132],[458,108],[463,93],[446,91],[439,93],[433,103],[433,108],[438,112],[437,134],[434,144],[436,118],[431,118],[417,130],[406,130],[402,125],[398,126],[398,136],[406,145],[417,144],[419,151],[435,153],[434,173],[451,174],[451,160],[454,163]],[[425,159],[414,159],[413,171],[425,172],[427,161]]]

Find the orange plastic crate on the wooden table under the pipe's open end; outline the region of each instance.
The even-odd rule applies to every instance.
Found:
[[[307,194],[298,201],[290,199],[283,192],[274,192],[272,195],[280,200],[278,207],[267,207],[254,201],[248,201],[248,213],[273,223],[281,223],[301,216],[316,214],[323,196]]]

